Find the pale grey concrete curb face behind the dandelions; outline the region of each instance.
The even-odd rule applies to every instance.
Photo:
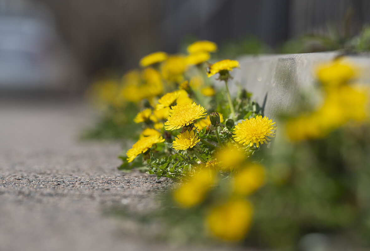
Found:
[[[265,103],[265,115],[276,119],[280,111],[289,112],[296,94],[314,94],[315,69],[329,62],[340,52],[316,52],[306,54],[260,55],[240,57],[240,69],[232,72],[231,92],[241,84],[252,92],[252,98],[261,106]],[[361,83],[370,84],[370,54],[346,55],[346,61],[359,68]]]

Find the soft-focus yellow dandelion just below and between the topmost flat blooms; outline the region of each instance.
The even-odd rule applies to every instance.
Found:
[[[181,82],[186,69],[186,58],[182,55],[170,56],[161,64],[162,77],[169,81]]]

